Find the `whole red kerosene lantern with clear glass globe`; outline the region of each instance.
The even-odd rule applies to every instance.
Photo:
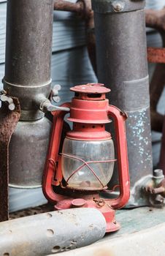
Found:
[[[66,111],[53,111],[53,128],[47,152],[43,176],[43,192],[47,200],[55,204],[56,210],[92,207],[104,215],[107,232],[118,230],[115,209],[123,207],[129,198],[128,157],[126,146],[126,113],[109,105],[106,99],[110,89],[101,83],[74,86],[72,102],[61,107],[69,108],[69,121],[73,128],[66,133],[62,152],[59,152],[61,132]],[[117,159],[110,132],[105,124],[115,123]],[[110,197],[107,184],[112,178],[115,161],[118,160],[120,194]],[[101,197],[101,192],[108,194]]]

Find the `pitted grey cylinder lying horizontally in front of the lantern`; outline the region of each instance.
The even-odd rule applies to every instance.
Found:
[[[0,255],[45,256],[87,246],[106,230],[103,215],[93,208],[53,211],[1,222]]]

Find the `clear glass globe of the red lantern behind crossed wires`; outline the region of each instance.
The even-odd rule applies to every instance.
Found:
[[[61,169],[67,187],[93,191],[104,189],[112,178],[114,161],[109,160],[114,157],[112,139],[87,141],[65,138]],[[77,172],[74,173],[75,170]]]

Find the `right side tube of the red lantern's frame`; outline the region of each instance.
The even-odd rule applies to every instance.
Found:
[[[107,200],[112,208],[122,208],[128,202],[130,196],[130,181],[128,173],[128,154],[126,143],[126,113],[113,105],[108,107],[108,116],[115,122],[115,139],[118,151],[118,176],[120,183],[120,195],[115,199]]]

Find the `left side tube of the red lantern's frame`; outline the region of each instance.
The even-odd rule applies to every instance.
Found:
[[[61,108],[70,108],[70,102],[61,105]],[[42,177],[42,191],[47,198],[52,203],[58,202],[59,200],[64,200],[64,195],[58,195],[53,190],[53,180],[57,173],[56,163],[58,162],[58,151],[61,143],[61,135],[64,124],[64,116],[66,116],[68,111],[65,110],[55,110],[51,112],[53,114],[53,128],[50,135],[50,143],[47,151],[47,159],[45,162],[45,170]],[[59,161],[61,164],[61,162]],[[58,174],[59,175],[59,174]],[[62,173],[61,173],[62,178]]]

